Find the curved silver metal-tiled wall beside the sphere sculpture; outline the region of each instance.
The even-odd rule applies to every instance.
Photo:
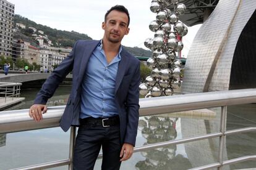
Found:
[[[182,93],[229,89],[236,44],[255,9],[254,0],[219,1],[190,47]]]

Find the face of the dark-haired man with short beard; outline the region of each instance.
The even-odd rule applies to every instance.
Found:
[[[105,30],[104,36],[112,43],[122,41],[124,35],[129,33],[128,16],[124,12],[112,10],[106,17],[106,22],[102,23],[102,29]]]

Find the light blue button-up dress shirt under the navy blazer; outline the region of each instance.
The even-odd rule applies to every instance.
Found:
[[[122,46],[119,53],[108,63],[103,50],[102,40],[93,51],[88,61],[82,81],[80,118],[109,118],[118,115],[114,102],[118,63],[121,60]]]

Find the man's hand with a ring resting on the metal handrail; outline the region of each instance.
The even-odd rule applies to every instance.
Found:
[[[41,119],[43,119],[42,113],[45,113],[46,111],[46,105],[35,104],[29,109],[29,116],[30,118],[33,118],[35,121],[39,122]]]

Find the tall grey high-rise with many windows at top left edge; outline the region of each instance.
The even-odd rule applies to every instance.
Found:
[[[0,0],[0,55],[12,55],[14,4]]]

